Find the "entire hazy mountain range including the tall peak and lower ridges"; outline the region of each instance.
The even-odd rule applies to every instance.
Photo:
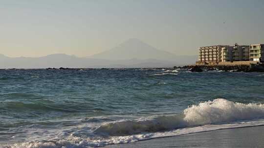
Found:
[[[42,57],[0,55],[0,68],[140,68],[194,64],[198,56],[176,56],[132,38],[119,46],[88,57],[54,54]]]

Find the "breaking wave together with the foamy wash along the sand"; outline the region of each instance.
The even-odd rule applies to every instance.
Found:
[[[71,134],[63,139],[0,145],[0,148],[94,148],[201,131],[264,125],[264,104],[215,99],[189,106],[182,113],[106,122],[90,139]]]

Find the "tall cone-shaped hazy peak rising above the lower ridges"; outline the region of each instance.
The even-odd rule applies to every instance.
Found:
[[[158,50],[139,39],[131,38],[119,46],[108,51],[88,56],[88,58],[124,60],[124,59],[158,59],[158,60],[174,60],[176,55]]]

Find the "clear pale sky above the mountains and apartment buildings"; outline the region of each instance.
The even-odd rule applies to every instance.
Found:
[[[0,54],[97,54],[138,38],[176,55],[264,43],[263,0],[0,0]]]

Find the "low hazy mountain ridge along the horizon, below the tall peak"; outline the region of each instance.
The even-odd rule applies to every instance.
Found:
[[[173,67],[175,62],[157,59],[105,60],[82,58],[64,54],[42,57],[7,57],[0,55],[0,69],[4,68],[140,68]]]

